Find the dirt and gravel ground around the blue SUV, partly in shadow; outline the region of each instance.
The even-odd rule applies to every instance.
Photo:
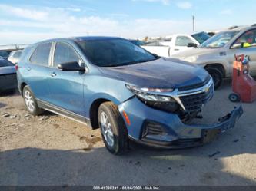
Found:
[[[234,108],[230,81],[204,108],[201,123]],[[233,130],[204,147],[125,156],[105,150],[99,130],[45,113],[32,117],[22,97],[0,97],[0,185],[256,185],[256,102],[243,104]]]

